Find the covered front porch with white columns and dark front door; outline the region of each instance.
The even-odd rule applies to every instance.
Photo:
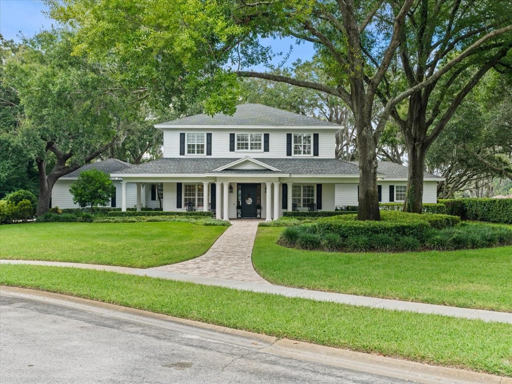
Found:
[[[286,211],[334,210],[333,183],[293,180],[288,175],[123,177],[121,210],[126,211],[126,191],[136,185],[136,205],[147,205],[143,190],[156,191],[163,211],[204,211],[217,219],[275,220]],[[149,186],[150,185],[150,186]]]

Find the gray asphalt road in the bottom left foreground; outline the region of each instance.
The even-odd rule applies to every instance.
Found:
[[[221,336],[222,337],[222,336]],[[405,383],[76,309],[3,296],[0,382]]]

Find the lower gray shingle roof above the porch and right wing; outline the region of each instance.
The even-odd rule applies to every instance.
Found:
[[[279,169],[271,171],[265,169],[226,169],[215,171],[224,165],[239,160],[233,157],[205,158],[205,157],[164,157],[163,159],[144,163],[137,166],[128,166],[114,172],[119,174],[141,175],[141,174],[280,174],[289,173],[294,175],[359,175],[357,162],[344,162],[336,159],[265,159],[256,158],[262,163]],[[125,164],[125,163],[123,163]],[[126,166],[127,164],[125,164]],[[83,168],[83,167],[82,167]],[[385,179],[407,180],[408,169],[405,166],[390,162],[378,163],[378,174]],[[425,173],[425,178],[439,178],[439,176]]]

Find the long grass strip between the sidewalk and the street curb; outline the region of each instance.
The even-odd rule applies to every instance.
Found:
[[[504,323],[78,268],[3,264],[0,283],[327,346],[512,376],[512,325]]]

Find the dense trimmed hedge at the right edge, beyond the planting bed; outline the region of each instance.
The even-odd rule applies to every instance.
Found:
[[[512,199],[461,198],[439,200],[447,213],[462,219],[512,224]]]

